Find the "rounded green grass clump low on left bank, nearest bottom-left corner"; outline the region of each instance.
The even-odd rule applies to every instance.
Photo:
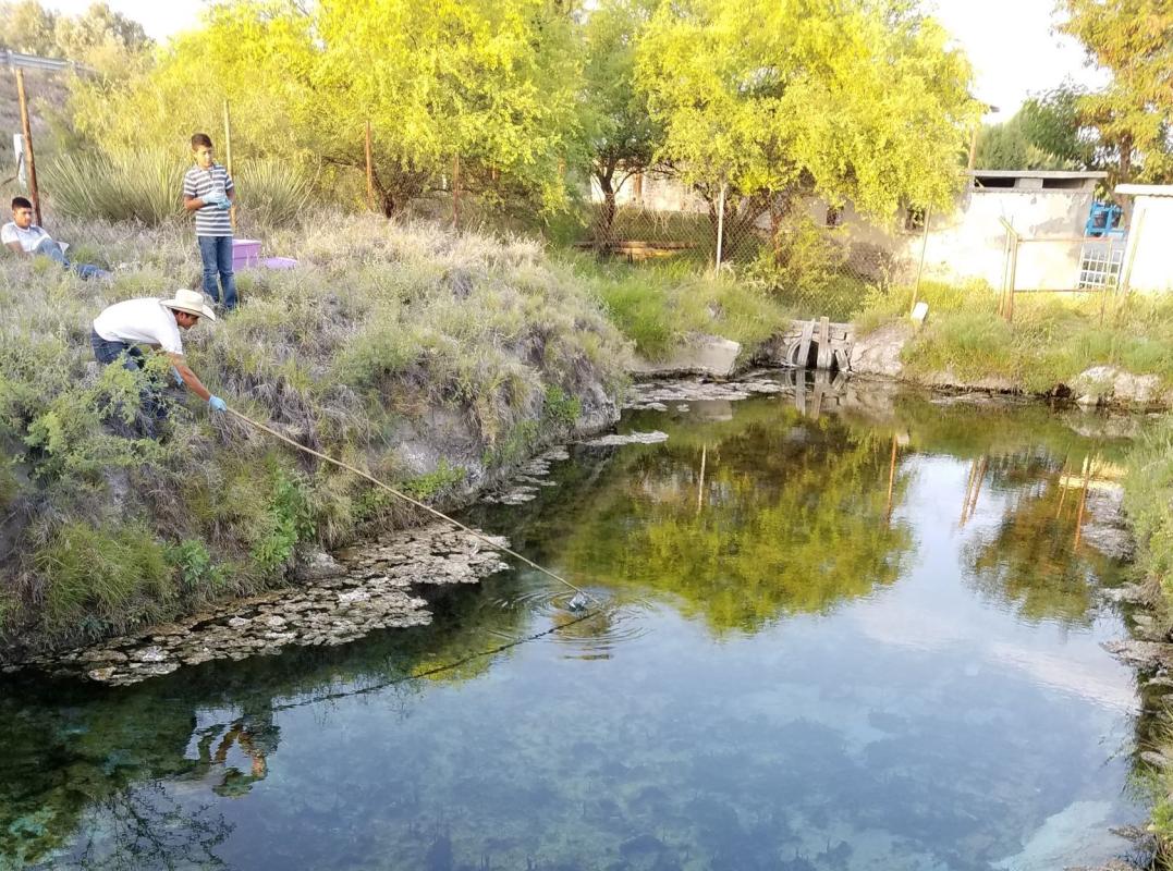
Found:
[[[157,613],[174,594],[163,546],[141,523],[69,520],[36,550],[34,564],[46,586],[46,622],[59,630],[89,613],[124,627]]]

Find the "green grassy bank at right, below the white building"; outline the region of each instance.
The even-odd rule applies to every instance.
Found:
[[[1092,366],[1111,365],[1155,375],[1173,388],[1173,298],[1133,295],[1110,300],[1100,324],[1093,294],[1018,294],[1013,324],[997,314],[997,297],[984,283],[924,283],[929,304],[923,329],[903,349],[913,380],[951,373],[957,383],[997,379],[1028,393],[1072,386]],[[862,332],[903,318],[911,295],[891,292],[868,300],[856,318]]]

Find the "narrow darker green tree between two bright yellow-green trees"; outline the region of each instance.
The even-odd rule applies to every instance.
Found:
[[[591,175],[603,195],[601,238],[611,234],[616,192],[656,165],[664,137],[636,81],[636,47],[656,6],[656,0],[603,0],[583,27],[583,117]]]

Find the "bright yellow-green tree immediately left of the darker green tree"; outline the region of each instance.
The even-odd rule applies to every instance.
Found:
[[[366,121],[388,215],[455,170],[466,190],[562,203],[576,140],[578,53],[547,0],[323,0],[314,76],[318,141],[362,165]]]

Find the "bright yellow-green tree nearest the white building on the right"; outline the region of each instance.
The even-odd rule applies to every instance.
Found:
[[[711,204],[727,185],[731,237],[802,193],[883,218],[943,205],[977,114],[965,59],[906,0],[664,4],[639,70],[663,156]]]

